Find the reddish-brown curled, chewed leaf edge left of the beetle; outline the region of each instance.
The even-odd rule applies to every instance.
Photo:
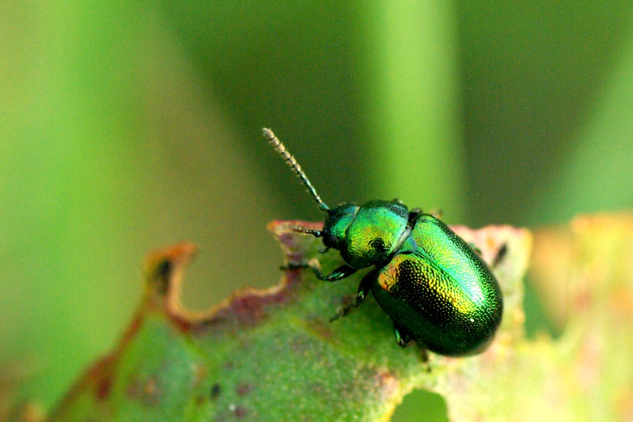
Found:
[[[287,263],[299,264],[303,262],[306,246],[305,242],[298,242],[297,237],[292,236],[291,227],[296,224],[317,230],[323,226],[322,223],[307,221],[272,221],[267,228],[282,245]],[[184,333],[208,330],[210,326],[219,324],[253,326],[265,315],[267,306],[290,300],[293,290],[301,280],[301,270],[287,270],[281,281],[268,289],[239,289],[208,311],[194,312],[182,306],[180,297],[185,270],[197,251],[196,245],[182,242],[156,249],[147,255],[144,264],[145,292],[132,322],[113,351],[87,369],[70,388],[50,415],[51,418],[61,409],[70,406],[75,397],[86,390],[91,391],[97,399],[104,400],[108,397],[116,362],[148,314],[164,313]]]

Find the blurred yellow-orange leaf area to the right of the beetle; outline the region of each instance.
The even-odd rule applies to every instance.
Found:
[[[530,275],[561,337],[527,340],[522,314],[506,314],[513,333],[439,376],[451,420],[632,420],[633,216],[537,231]]]

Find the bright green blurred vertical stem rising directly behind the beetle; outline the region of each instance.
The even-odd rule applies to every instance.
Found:
[[[411,207],[463,221],[456,6],[406,0],[375,2],[370,11],[376,196],[396,192]]]

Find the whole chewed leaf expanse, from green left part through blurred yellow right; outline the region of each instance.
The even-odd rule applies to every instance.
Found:
[[[291,267],[320,247],[292,232],[295,223],[269,227]],[[503,321],[478,356],[425,361],[415,344],[399,348],[372,298],[330,321],[361,275],[326,283],[286,270],[279,285],[192,313],[179,297],[196,248],[179,244],[149,256],[146,294],[128,332],[49,420],[387,421],[413,388],[441,394],[452,421],[630,420],[633,215],[582,216],[534,234],[530,279],[562,332],[556,339],[525,337],[522,277],[532,233],[454,230],[489,263],[503,245],[508,251],[494,266]],[[322,261],[325,270],[340,264],[334,251]],[[42,420],[28,406],[13,414]]]

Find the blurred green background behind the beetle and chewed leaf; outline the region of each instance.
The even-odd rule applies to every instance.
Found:
[[[0,363],[53,406],[155,247],[201,247],[194,309],[277,282],[266,223],[322,215],[261,127],[332,205],[475,227],[630,208],[632,23],[621,0],[0,1]],[[394,416],[445,419],[423,392]]]

